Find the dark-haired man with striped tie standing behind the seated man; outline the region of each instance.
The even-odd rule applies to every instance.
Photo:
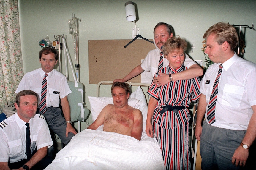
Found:
[[[47,109],[45,113],[41,111],[38,113],[45,116],[50,129],[60,137],[64,144],[68,144],[77,132],[70,121],[70,107],[67,95],[71,93],[71,90],[67,84],[67,78],[56,69],[53,69],[58,62],[58,52],[51,47],[43,48],[39,52],[39,62],[41,63],[41,68],[26,73],[20,81],[16,93],[21,90],[32,90],[39,95],[41,101],[42,82],[45,74],[47,74]],[[60,100],[64,117],[59,108]]]

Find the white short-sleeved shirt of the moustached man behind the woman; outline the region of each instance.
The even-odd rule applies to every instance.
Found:
[[[154,77],[155,73],[158,69],[158,64],[160,60],[160,50],[159,48],[151,50],[148,52],[147,56],[141,63],[141,68],[145,70],[146,72],[151,72],[152,78]],[[169,61],[166,58],[164,59],[164,66],[163,68],[167,67],[169,65]],[[184,61],[184,66],[189,68],[193,64],[196,64],[195,61],[189,58],[189,56],[186,54],[186,58]]]

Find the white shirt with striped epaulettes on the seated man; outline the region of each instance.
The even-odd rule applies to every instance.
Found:
[[[0,162],[18,162],[27,158],[26,122],[18,114],[8,117],[0,123]],[[37,148],[53,145],[48,125],[43,115],[36,114],[29,120],[31,153]]]

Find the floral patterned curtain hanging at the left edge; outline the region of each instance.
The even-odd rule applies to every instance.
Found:
[[[18,0],[1,0],[0,111],[4,106],[15,101],[15,90],[22,77]]]

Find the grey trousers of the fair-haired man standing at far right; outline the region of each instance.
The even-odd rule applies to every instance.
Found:
[[[235,150],[244,138],[246,130],[230,130],[203,122],[200,139],[201,168],[207,169],[241,169],[231,163]]]

